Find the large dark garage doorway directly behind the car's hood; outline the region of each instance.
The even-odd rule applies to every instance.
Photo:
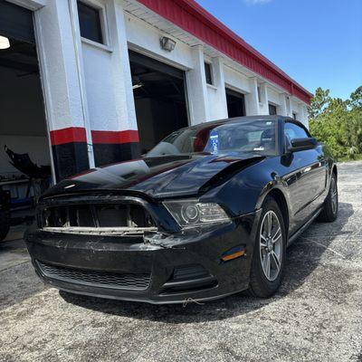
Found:
[[[185,72],[129,51],[142,154],[176,129],[187,127]]]

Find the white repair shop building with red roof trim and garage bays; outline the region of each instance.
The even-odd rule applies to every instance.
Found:
[[[308,122],[311,94],[193,0],[0,0],[0,35],[0,152],[56,180],[213,119]]]

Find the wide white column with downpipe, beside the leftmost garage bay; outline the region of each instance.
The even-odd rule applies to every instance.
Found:
[[[85,160],[82,156],[74,162],[81,165],[81,168],[86,164],[93,167],[90,126],[84,105],[81,60],[72,23],[71,4],[64,0],[48,1],[34,12],[34,25],[48,129],[51,132],[60,129],[83,129],[85,142],[90,145],[88,159]],[[71,135],[76,141],[79,133],[75,131]],[[58,157],[57,161],[66,162],[64,157]],[[69,167],[69,170],[73,168]],[[60,171],[58,169],[58,172]],[[59,173],[61,174],[62,172]]]

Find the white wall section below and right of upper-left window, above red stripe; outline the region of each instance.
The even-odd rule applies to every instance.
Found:
[[[122,7],[107,3],[105,46],[81,39],[91,130],[137,129]]]

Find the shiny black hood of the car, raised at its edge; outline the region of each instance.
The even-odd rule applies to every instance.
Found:
[[[160,198],[196,195],[219,182],[219,175],[233,173],[263,157],[258,155],[180,155],[149,157],[90,169],[61,181],[43,197],[91,191],[124,191]]]

